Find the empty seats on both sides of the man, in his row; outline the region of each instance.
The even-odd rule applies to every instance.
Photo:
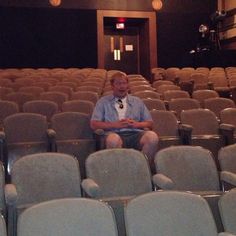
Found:
[[[153,131],[159,135],[158,150],[171,145],[199,145],[211,150],[219,168],[219,149],[235,143],[236,108],[221,114],[225,120],[219,124],[215,114],[206,109],[182,111],[180,121],[171,111],[152,110]],[[0,157],[8,175],[12,163],[23,155],[57,151],[77,157],[84,177],[87,156],[103,148],[103,135],[95,135],[90,115],[80,112],[56,113],[50,126],[41,114],[16,113],[4,119],[0,132]]]

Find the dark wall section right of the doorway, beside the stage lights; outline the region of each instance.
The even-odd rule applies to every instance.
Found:
[[[215,0],[165,0],[157,13],[158,66],[191,66],[189,52],[196,49],[198,28],[210,24],[217,9]]]

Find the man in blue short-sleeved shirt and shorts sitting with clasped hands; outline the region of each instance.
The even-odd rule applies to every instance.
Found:
[[[152,117],[138,97],[128,94],[128,78],[122,72],[111,80],[112,95],[97,102],[91,117],[91,128],[105,133],[106,148],[135,148],[148,157],[151,169],[157,152],[158,136],[152,129]]]

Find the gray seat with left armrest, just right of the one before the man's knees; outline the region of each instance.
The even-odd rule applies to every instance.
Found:
[[[155,156],[154,183],[161,189],[219,191],[215,162],[209,150],[197,146],[172,146]]]

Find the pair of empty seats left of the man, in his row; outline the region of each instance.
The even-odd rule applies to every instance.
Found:
[[[90,116],[79,112],[54,114],[50,127],[41,114],[16,113],[7,116],[0,132],[0,155],[11,174],[15,160],[26,154],[38,152],[68,153],[80,160],[81,174],[87,156],[96,150],[96,142],[90,128]]]

